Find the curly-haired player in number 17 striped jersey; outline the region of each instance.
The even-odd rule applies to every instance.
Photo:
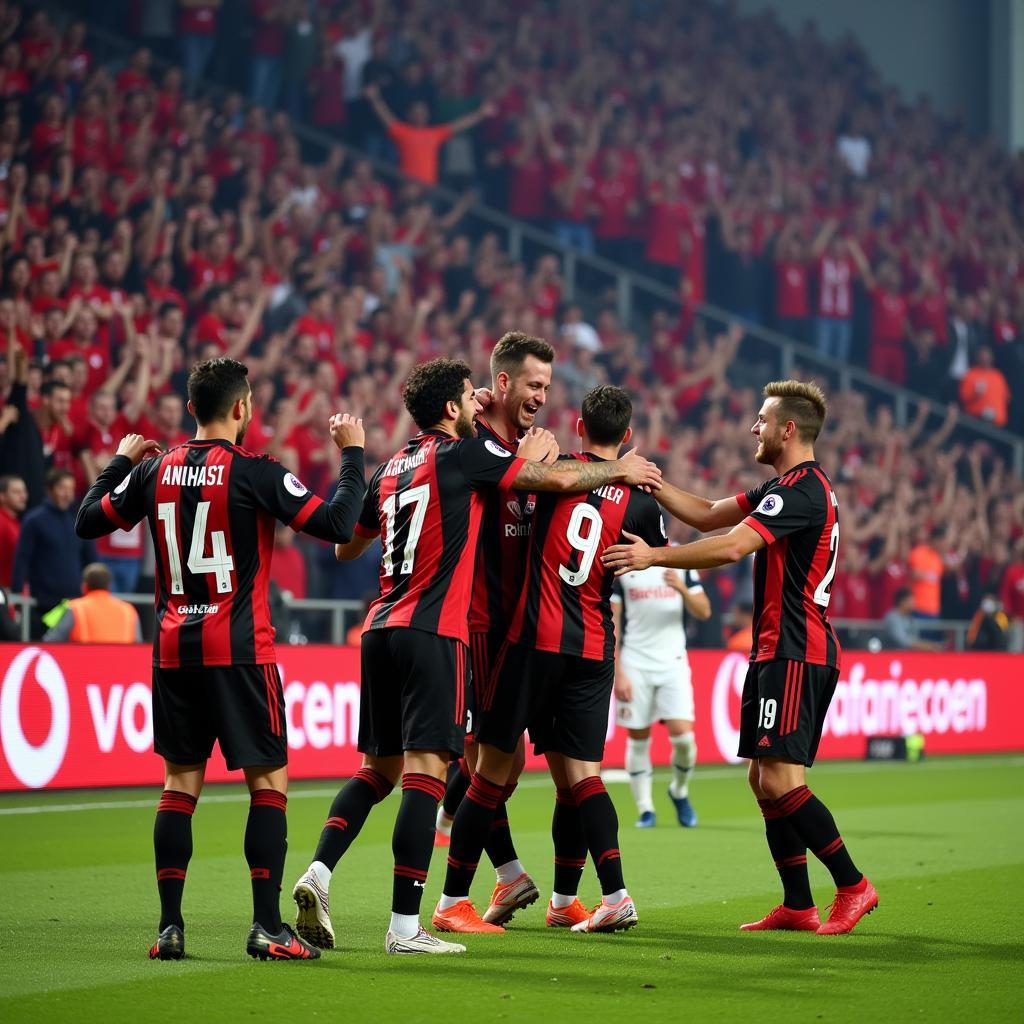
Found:
[[[524,456],[543,460],[552,454],[554,438],[547,431],[530,431],[517,455],[475,437],[480,408],[469,373],[464,362],[434,359],[410,375],[403,398],[421,432],[375,473],[355,537],[337,551],[340,559],[356,558],[378,537],[383,546],[381,595],[370,606],[361,644],[364,764],[331,805],[313,862],[294,890],[296,927],[326,945],[333,941],[332,871],[373,806],[400,776],[385,949],[465,950],[422,929],[419,910],[442,780],[450,759],[462,754],[466,734],[469,603],[485,492],[584,493],[614,482],[660,481],[657,468],[635,453],[602,463],[525,461]],[[480,924],[480,930],[503,931]]]

